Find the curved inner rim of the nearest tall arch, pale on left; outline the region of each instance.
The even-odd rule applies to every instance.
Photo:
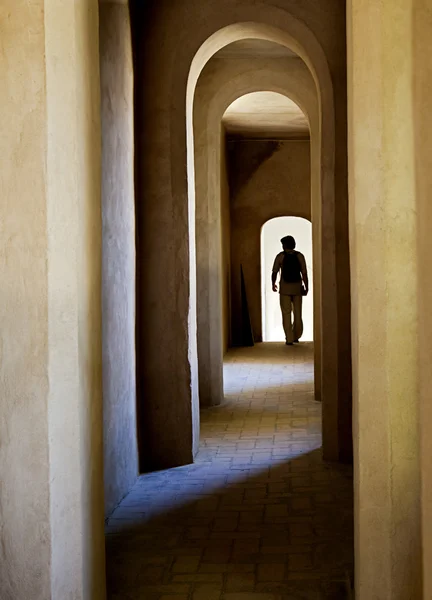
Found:
[[[267,7],[269,8],[269,7]],[[326,340],[328,348],[324,354],[320,351],[321,324],[317,323],[317,352],[315,362],[318,365],[318,373],[321,377],[316,381],[317,397],[323,398],[323,389],[328,397],[326,409],[323,415],[323,437],[325,455],[327,458],[339,458],[338,437],[340,427],[338,425],[338,330],[337,330],[337,298],[336,298],[336,239],[335,239],[335,186],[334,186],[334,159],[335,159],[335,130],[334,130],[334,99],[331,77],[325,55],[319,43],[315,39],[312,32],[300,21],[294,18],[287,19],[285,11],[275,12],[281,17],[281,21],[277,22],[277,26],[270,24],[272,22],[273,8],[270,13],[262,20],[256,22],[237,22],[225,26],[212,35],[210,35],[200,46],[193,57],[188,76],[186,90],[186,127],[187,127],[187,165],[188,165],[188,181],[189,181],[189,257],[190,257],[190,307],[189,312],[189,348],[190,355],[194,357],[192,361],[192,370],[195,371],[195,378],[198,376],[198,360],[197,360],[197,330],[196,330],[196,273],[195,273],[195,169],[193,166],[193,100],[195,94],[196,83],[204,66],[207,64],[211,56],[222,49],[224,46],[241,39],[262,39],[274,42],[289,48],[294,51],[307,65],[315,82],[318,111],[319,111],[319,171],[320,179],[318,186],[320,188],[319,195],[321,202],[316,202],[314,212],[316,220],[320,223],[319,231],[316,232],[317,243],[315,247],[320,248],[323,255],[326,256],[326,261],[322,263],[323,270],[316,270],[326,280],[326,288],[332,290],[334,294],[326,294],[321,297],[321,280],[316,282],[316,294],[321,300],[322,312],[326,317]],[[276,90],[275,90],[276,91]],[[295,94],[295,91],[293,92]],[[292,96],[291,96],[292,97]],[[233,98],[234,99],[234,98]],[[294,98],[293,98],[294,99]],[[324,149],[323,146],[326,145]],[[325,213],[322,213],[322,206],[325,205]],[[321,235],[324,232],[324,235]],[[335,301],[336,300],[336,301]],[[218,355],[220,349],[216,348]],[[209,349],[207,350],[209,356]],[[208,361],[210,364],[210,361]],[[220,363],[221,364],[221,363]],[[214,371],[214,381],[219,391],[214,397],[221,396],[221,366],[215,367],[212,363]],[[194,380],[194,377],[192,377]],[[196,394],[198,391],[196,390]]]

